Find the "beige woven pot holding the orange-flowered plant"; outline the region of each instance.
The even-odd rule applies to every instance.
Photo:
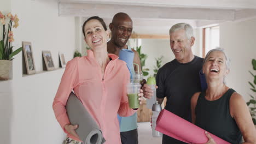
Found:
[[[9,80],[9,73],[13,61],[0,60],[0,80]]]

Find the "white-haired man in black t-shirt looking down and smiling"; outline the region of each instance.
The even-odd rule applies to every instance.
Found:
[[[191,122],[190,99],[201,91],[199,71],[203,58],[193,55],[193,28],[187,23],[177,23],[170,29],[170,46],[175,56],[171,62],[161,67],[156,75],[156,95],[161,104],[166,97],[165,109]],[[184,143],[162,136],[162,144]]]

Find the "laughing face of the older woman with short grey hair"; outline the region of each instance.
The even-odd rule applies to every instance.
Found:
[[[224,79],[229,70],[226,69],[226,58],[223,52],[213,51],[207,57],[203,65],[203,73],[206,79]]]

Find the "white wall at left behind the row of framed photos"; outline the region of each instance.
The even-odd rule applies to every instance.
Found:
[[[73,57],[74,17],[59,17],[57,1],[1,1],[2,9],[18,15],[14,49],[31,41],[37,71],[42,70],[42,50],[51,51],[56,68],[59,51],[66,61]],[[21,54],[13,60],[13,79],[0,81],[0,143],[61,143],[65,134],[51,105],[64,69],[22,76]]]

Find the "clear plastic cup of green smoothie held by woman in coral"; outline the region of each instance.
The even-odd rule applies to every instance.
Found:
[[[127,97],[129,99],[129,106],[131,109],[139,108],[139,96],[141,85],[139,83],[129,83],[127,85]]]

